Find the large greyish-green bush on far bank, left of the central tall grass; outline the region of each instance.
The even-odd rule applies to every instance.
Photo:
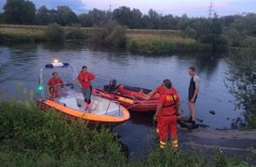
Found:
[[[91,40],[94,43],[125,47],[126,28],[119,25],[116,20],[109,20],[107,23],[94,27]]]

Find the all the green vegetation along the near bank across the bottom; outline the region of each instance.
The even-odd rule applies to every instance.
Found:
[[[17,101],[17,100],[15,100]],[[26,104],[26,105],[25,105]],[[211,161],[189,152],[161,151],[156,144],[145,161],[127,163],[117,134],[89,128],[84,121],[68,123],[52,111],[41,112],[33,100],[0,102],[0,163],[2,166],[250,166],[218,149]]]

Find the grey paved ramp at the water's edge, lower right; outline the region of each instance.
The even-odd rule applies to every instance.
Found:
[[[227,156],[246,159],[248,150],[253,152],[252,163],[256,164],[256,130],[208,130],[203,128],[188,131],[178,129],[181,149],[203,151],[214,155],[219,148]]]

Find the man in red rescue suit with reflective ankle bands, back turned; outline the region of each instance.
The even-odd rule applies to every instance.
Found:
[[[182,115],[180,99],[169,79],[164,80],[162,87],[164,92],[159,98],[155,112],[159,131],[160,149],[165,148],[168,134],[170,134],[172,148],[178,150],[177,114]]]

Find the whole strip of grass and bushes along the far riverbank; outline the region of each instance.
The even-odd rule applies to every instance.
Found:
[[[235,48],[255,48],[254,35],[244,35],[236,40],[230,36],[237,36],[231,30],[225,34],[210,33],[199,35],[185,30],[155,30],[155,29],[127,29],[116,20],[82,27],[79,24],[61,26],[56,23],[49,25],[1,25],[0,44],[44,41],[86,41],[102,44],[106,47],[124,47],[132,53],[143,54],[171,54],[171,53],[211,53],[229,52]],[[199,32],[197,32],[199,33]],[[193,34],[193,35],[192,35]]]

